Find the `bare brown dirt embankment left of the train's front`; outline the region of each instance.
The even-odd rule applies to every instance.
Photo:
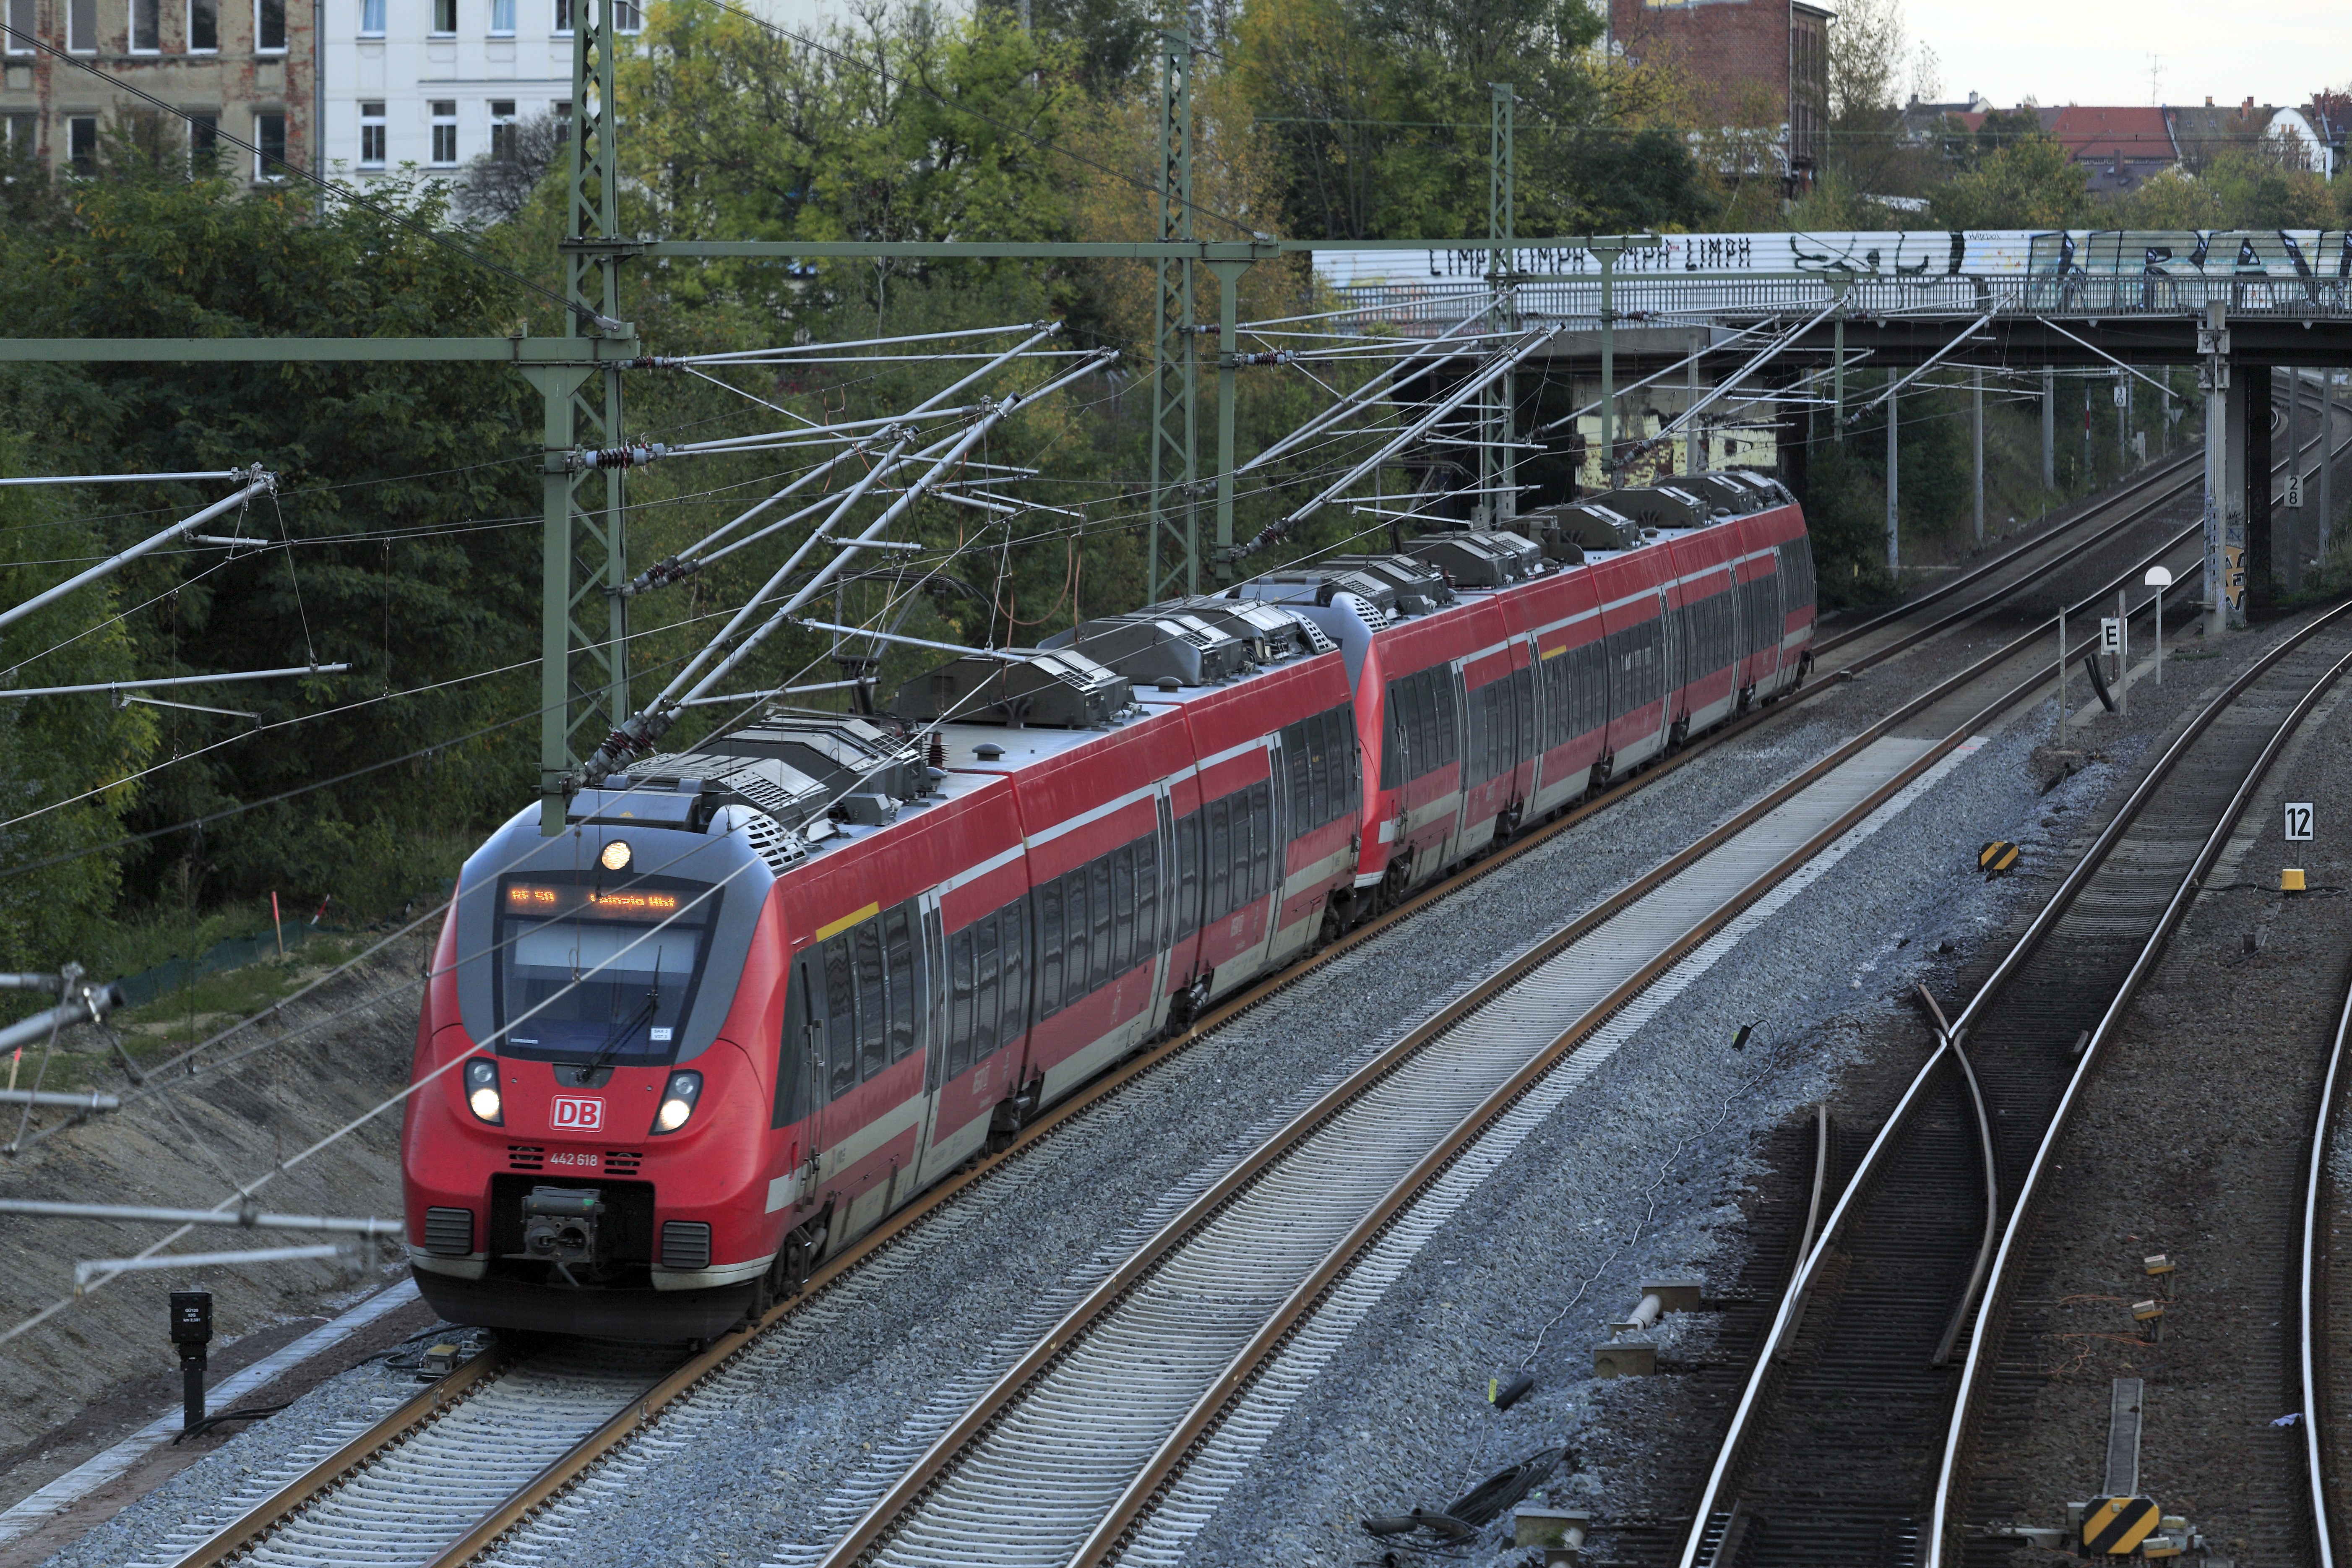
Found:
[[[221,1063],[148,1079],[146,1095],[118,1114],[99,1114],[33,1143],[61,1112],[40,1112],[31,1147],[0,1164],[0,1197],[85,1204],[162,1204],[209,1208],[238,1185],[270,1173],[318,1138],[397,1093],[416,1039],[419,973],[430,931],[393,943],[275,1018],[240,1030],[207,1053]],[[87,1058],[87,1081],[132,1091],[96,1030],[59,1041]],[[242,1053],[242,1060],[228,1060]],[[31,1067],[33,1053],[26,1053]],[[0,1143],[14,1135],[7,1107]],[[301,1166],[256,1190],[263,1208],[282,1213],[397,1215],[400,1114],[388,1110]],[[106,1220],[0,1218],[0,1331],[12,1328],[73,1293],[82,1258],[129,1258],[165,1234],[165,1225]],[[247,1251],[315,1244],[299,1232],[200,1227],[172,1244],[174,1253]],[[369,1279],[383,1279],[390,1258],[376,1258]],[[289,1316],[313,1314],[329,1295],[355,1284],[334,1260],[245,1267],[162,1269],[122,1274],[45,1324],[0,1347],[0,1505],[14,1502],[111,1439],[94,1422],[73,1418],[92,1406],[122,1406],[122,1429],[155,1415],[143,1385],[176,1387],[176,1361],[165,1342],[165,1298],[202,1286],[214,1295],[214,1363],[235,1363],[221,1340],[268,1335]],[[285,1338],[282,1333],[278,1338]],[[160,1403],[169,1403],[165,1394]],[[132,1420],[136,1418],[136,1420]],[[47,1441],[45,1441],[47,1439]],[[80,1450],[80,1453],[73,1453]]]

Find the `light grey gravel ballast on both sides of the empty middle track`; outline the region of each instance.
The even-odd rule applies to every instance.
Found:
[[[1931,679],[1903,661],[1900,682]],[[1893,675],[1889,668],[1884,675]],[[1178,1208],[1296,1105],[1343,1077],[1526,940],[1719,823],[1773,780],[1860,729],[1886,682],[1825,693],[1733,738],[1628,802],[1496,870],[1421,917],[1301,978],[1162,1070],[1080,1117],[894,1246],[877,1267],[797,1314],[715,1387],[501,1547],[499,1561],[602,1554],[649,1563],[797,1561],[835,1537],[927,1443],[960,1399],[1023,1349],[1157,1218]],[[1200,1563],[1355,1561],[1357,1512],[1442,1507],[1550,1443],[1590,1448],[1602,1413],[1585,1382],[1599,1326],[1637,1279],[1736,1267],[1736,1192],[1759,1128],[1823,1093],[1889,997],[1999,929],[2039,877],[1985,884],[1976,846],[2011,837],[2030,865],[2056,858],[2112,764],[2042,795],[2032,752],[2046,717],[1999,733],[1926,788],[1832,870],[1712,954],[1700,980],[1632,1020],[1613,1056],[1529,1114],[1515,1147],[1458,1182],[1411,1255],[1367,1267],[1392,1281],[1319,1378],[1232,1472],[1197,1533],[1167,1549]],[[1757,1025],[1743,1053],[1729,1041]],[[1677,1152],[1679,1150],[1679,1152]],[[1672,1159],[1670,1159],[1672,1157]],[[1651,1213],[1653,1208],[1653,1213]],[[1731,1251],[1726,1251],[1731,1248]],[[1623,1300],[1621,1300],[1623,1298]],[[1538,1389],[1508,1415],[1489,1378],[1534,1349]],[[1663,1326],[1665,1354],[1705,1340],[1705,1319]],[[127,1509],[59,1563],[127,1561],[191,1519],[226,1516],[242,1443],[292,1453],[329,1434],[320,1389],[263,1432]],[[334,1401],[360,1399],[358,1406]],[[1562,1474],[1583,1495],[1604,1472]]]

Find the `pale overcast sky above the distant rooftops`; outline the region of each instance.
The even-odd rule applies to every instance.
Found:
[[[1830,7],[1837,0],[1828,0]],[[1943,101],[2303,103],[2352,80],[2343,0],[1903,0]],[[2154,61],[2150,61],[2154,56]],[[2150,92],[2150,63],[2157,87]],[[1915,87],[1905,85],[1905,87]]]

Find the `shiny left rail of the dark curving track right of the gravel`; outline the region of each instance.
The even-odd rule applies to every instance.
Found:
[[[2131,823],[2138,818],[2147,799],[2171,776],[2171,771],[2187,755],[2187,750],[2204,736],[2204,731],[2211,729],[2211,724],[2220,717],[2220,712],[2232,701],[2237,701],[2237,696],[2249,684],[2260,679],[2279,658],[2303,646],[2303,642],[2307,642],[2310,637],[2314,637],[2319,630],[2336,623],[2345,614],[2352,614],[2352,604],[2338,607],[2326,616],[2319,616],[2310,625],[2300,628],[2277,649],[2263,654],[2263,658],[2258,658],[2251,668],[2246,668],[2234,682],[2230,682],[2230,686],[2225,686],[2211,703],[2206,703],[2204,710],[2197,712],[2197,717],[2187,724],[2187,729],[2164,750],[2164,755],[2154,762],[2154,766],[2138,783],[2138,788],[2133,788],[2133,792],[2124,799],[2124,804],[2117,809],[2114,818],[2098,835],[2098,839],[2093,839],[2091,846],[2082,853],[2082,858],[2067,870],[2065,879],[2060,879],[2058,889],[2042,905],[2042,910],[2034,912],[2034,919],[2025,926],[2025,931],[2009,947],[2009,952],[2002,954],[2002,961],[1994,966],[1992,976],[1985,978],[1976,997],[1971,997],[1969,1006],[1962,1009],[1959,1018],[1952,1020],[1952,1027],[1938,1037],[1936,1051],[1929,1053],[1926,1063],[1922,1063],[1919,1070],[1912,1074],[1912,1081],[1903,1091],[1903,1098],[1896,1103],[1896,1110],[1886,1117],[1884,1126],[1879,1126],[1877,1138],[1870,1140],[1870,1150],[1863,1154],[1860,1166],[1856,1166],[1853,1175],[1846,1178],[1846,1187],[1837,1199],[1837,1208],[1830,1211],[1830,1222],[1823,1229],[1820,1241],[1806,1255],[1804,1267],[1797,1269],[1797,1276],[1790,1281],[1790,1288],[1780,1298],[1780,1309],[1773,1314],[1773,1324],[1766,1331],[1764,1345],[1757,1352],[1757,1363],[1748,1375],[1745,1389],[1740,1392],[1740,1403],[1733,1408],[1731,1425],[1724,1432],[1724,1441],[1717,1446],[1715,1465],[1708,1472],[1708,1483],[1700,1490],[1698,1507],[1691,1519],[1691,1530],[1684,1540],[1682,1556],[1677,1559],[1679,1568],[1700,1568],[1700,1552],[1705,1549],[1708,1519],[1722,1507],[1724,1486],[1729,1483],[1731,1469],[1740,1458],[1740,1450],[1745,1448],[1750,1422],[1759,1413],[1764,1382],[1771,1373],[1773,1361],[1780,1356],[1783,1345],[1795,1333],[1797,1321],[1804,1316],[1804,1307],[1820,1274],[1820,1265],[1830,1255],[1830,1241],[1839,1232],[1844,1232],[1846,1225],[1851,1222],[1856,1208],[1860,1206],[1860,1194],[1870,1190],[1872,1178],[1886,1161],[1889,1150],[1893,1150],[1900,1133],[1907,1128],[1919,1100],[1924,1098],[1926,1084],[1943,1065],[1945,1056],[1952,1053],[1955,1041],[1969,1032],[1976,1016],[1985,1006],[1990,1006],[1990,999],[2009,983],[2016,969],[2032,952],[2042,947],[2049,931],[2058,924],[2065,910],[2072,907],[2074,896],[2084,889],[2084,884],[2105,865],[2107,856],[2122,842],[2124,832],[2129,832]],[[2046,677],[2037,672],[2032,677],[2032,684],[2039,686],[2042,679]],[[1999,1258],[1994,1260],[1994,1276],[1997,1272],[1999,1272]],[[1980,1342],[1983,1335],[1976,1335],[1969,1345],[1971,1363],[1976,1359]]]

